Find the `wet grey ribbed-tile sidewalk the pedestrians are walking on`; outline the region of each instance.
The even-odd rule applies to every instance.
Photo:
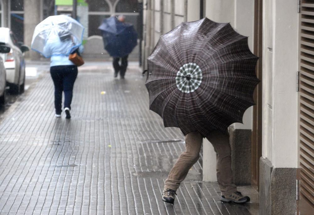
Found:
[[[161,201],[184,137],[149,111],[136,65],[124,80],[110,64],[82,66],[71,120],[55,118],[51,77],[41,76],[0,122],[0,214],[250,214],[201,182],[202,157],[175,204]]]

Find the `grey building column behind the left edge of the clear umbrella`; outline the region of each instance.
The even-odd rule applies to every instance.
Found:
[[[41,4],[37,0],[24,0],[24,44],[30,46],[34,29],[41,22]],[[40,54],[30,50],[26,57],[32,60],[40,58]]]

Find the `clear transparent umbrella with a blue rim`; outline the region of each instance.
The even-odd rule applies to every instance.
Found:
[[[82,44],[83,32],[84,27],[69,16],[50,16],[35,27],[31,49],[46,58],[69,55]]]

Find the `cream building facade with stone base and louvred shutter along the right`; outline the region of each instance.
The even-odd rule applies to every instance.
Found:
[[[181,22],[208,17],[248,36],[259,57],[261,83],[244,124],[229,129],[235,183],[259,192],[261,215],[313,214],[314,2],[146,0],[143,5],[143,60],[160,35]],[[204,181],[216,181],[215,162],[214,150],[204,141]]]

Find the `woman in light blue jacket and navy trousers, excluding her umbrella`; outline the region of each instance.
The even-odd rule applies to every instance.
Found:
[[[73,46],[73,36],[66,31],[58,32],[58,36],[51,35],[46,41],[44,49],[49,49],[52,53],[50,58],[50,74],[55,86],[55,109],[56,117],[61,117],[62,113],[62,92],[64,92],[64,112],[66,119],[71,118],[71,102],[73,97],[74,82],[78,74],[78,68],[69,60],[69,55],[60,55],[60,50]],[[83,52],[83,46],[73,48],[71,53],[78,49]]]

